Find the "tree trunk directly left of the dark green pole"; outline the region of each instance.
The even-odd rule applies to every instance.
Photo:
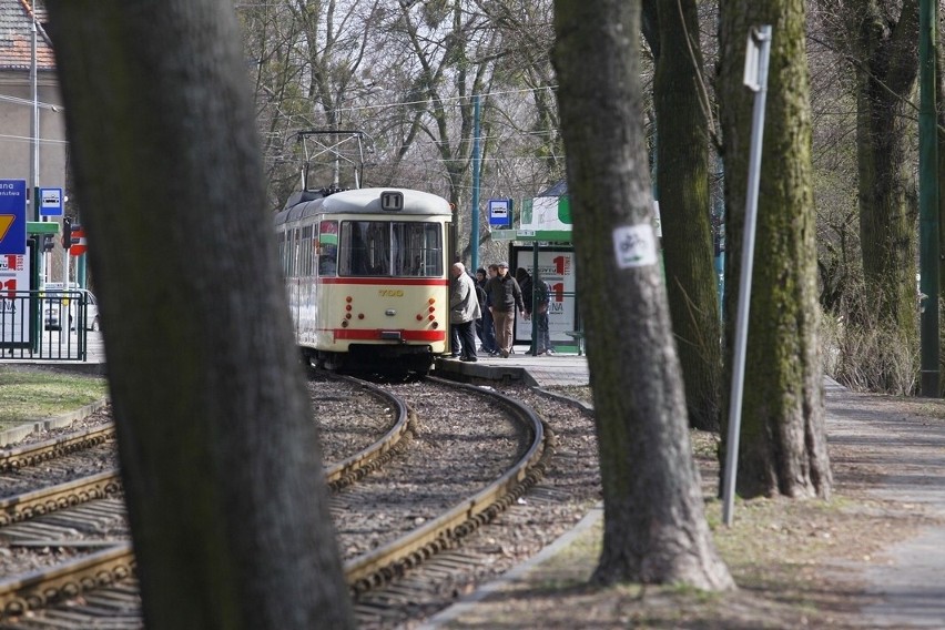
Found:
[[[917,71],[918,6],[902,2],[900,19],[877,0],[851,0],[847,38],[856,68],[856,160],[860,241],[866,304],[878,325],[895,337],[890,345],[914,357],[917,201],[910,159],[915,116],[910,104]],[[911,366],[910,366],[911,367]],[[881,389],[896,389],[894,375]]]

